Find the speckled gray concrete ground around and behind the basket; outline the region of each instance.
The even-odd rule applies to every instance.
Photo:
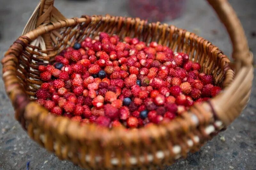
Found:
[[[39,0],[0,0],[0,59],[22,32]],[[249,46],[256,55],[256,1],[230,0],[244,26]],[[55,6],[68,18],[82,14],[129,16],[122,0],[56,0]],[[227,33],[204,0],[189,1],[181,18],[169,22],[213,42],[230,55]],[[2,66],[0,66],[2,69]],[[2,77],[2,75],[0,75]],[[167,169],[256,169],[256,87],[243,113],[226,131],[205,144],[199,152],[189,154]],[[225,141],[220,140],[221,137]],[[14,119],[14,111],[0,80],[0,169],[80,169],[61,161],[32,141]]]

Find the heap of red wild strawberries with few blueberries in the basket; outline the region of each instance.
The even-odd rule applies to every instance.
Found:
[[[37,102],[52,114],[105,127],[170,121],[221,90],[184,53],[137,38],[100,33],[40,65]]]

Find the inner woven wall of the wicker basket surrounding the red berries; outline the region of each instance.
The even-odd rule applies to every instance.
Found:
[[[130,36],[137,37],[140,41],[145,41],[146,44],[156,41],[163,46],[170,47],[174,52],[185,52],[191,61],[200,63],[201,72],[212,74],[215,84],[223,87],[224,65],[229,63],[229,60],[211,42],[194,33],[167,24],[146,23],[138,18],[120,24],[120,21],[114,19],[115,17],[108,19],[94,16],[90,19],[91,22],[53,30],[51,32],[53,49],[48,51],[44,50],[41,43],[39,44],[43,41],[42,37],[31,42],[20,55],[17,69],[17,77],[30,99],[36,98],[36,91],[42,84],[38,65],[47,65],[63,49],[74,45],[75,42],[83,41],[86,37],[95,38],[100,32],[116,34],[121,40],[125,36]],[[88,21],[90,20],[88,19]]]

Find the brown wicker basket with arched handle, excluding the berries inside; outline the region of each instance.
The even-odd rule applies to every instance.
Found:
[[[249,100],[253,68],[244,30],[227,0],[208,0],[225,24],[233,44],[229,59],[211,42],[175,26],[147,23],[139,18],[106,15],[66,19],[53,0],[41,0],[23,35],[2,60],[5,89],[15,108],[15,117],[28,135],[54,152],[84,168],[123,169],[170,165],[229,125]],[[173,121],[140,129],[108,129],[80,125],[54,116],[37,104],[35,92],[42,81],[38,65],[47,64],[67,46],[99,32],[157,41],[182,51],[199,62],[202,72],[212,74],[224,90],[209,102],[195,104]],[[232,67],[231,67],[232,66]],[[234,67],[233,67],[234,66]],[[231,69],[232,68],[232,69]]]

